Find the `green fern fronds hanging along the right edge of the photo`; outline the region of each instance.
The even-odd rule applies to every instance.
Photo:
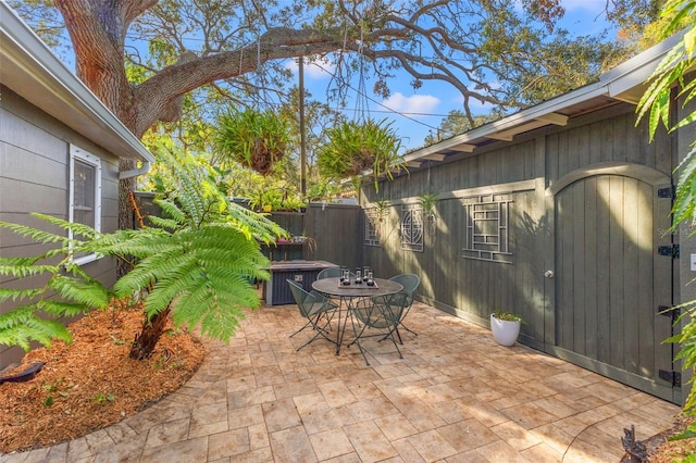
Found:
[[[696,80],[694,80],[693,73],[687,75],[696,64],[694,57],[694,52],[696,52],[696,21],[694,20],[696,17],[696,1],[669,0],[661,14],[669,18],[669,24],[663,30],[663,38],[683,27],[685,21],[688,27],[682,39],[667,53],[650,76],[649,87],[638,103],[637,120],[639,122],[645,116],[649,117],[650,140],[655,137],[660,125],[669,132],[673,132],[696,121],[696,112],[685,115],[681,121],[670,121],[672,91],[675,84],[678,85],[678,95],[682,98],[684,105],[696,97]],[[679,172],[679,183],[672,209],[671,232],[678,229],[682,223],[689,226],[696,224],[696,142],[692,145],[691,151],[680,163],[676,172]],[[681,350],[675,360],[683,360],[684,368],[693,370],[696,366],[696,322],[694,321],[696,305],[692,301],[681,308],[684,311],[676,324],[683,325],[682,330],[667,341],[680,343]],[[689,383],[693,384],[693,381],[692,377]],[[684,403],[684,411],[692,414],[696,412],[696,391],[693,387]]]

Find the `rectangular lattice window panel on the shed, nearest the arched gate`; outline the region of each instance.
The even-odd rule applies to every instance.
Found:
[[[480,196],[464,203],[465,240],[462,256],[478,261],[512,263],[510,252],[511,200]]]

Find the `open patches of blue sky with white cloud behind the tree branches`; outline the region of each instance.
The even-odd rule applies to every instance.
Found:
[[[607,27],[602,14],[606,0],[563,0],[566,15],[559,23],[559,27],[566,28],[577,35],[599,34]],[[288,62],[288,67],[295,70],[297,75],[297,64]],[[331,80],[327,71],[332,70],[330,62],[321,63],[320,66],[304,66],[304,87],[314,98],[321,98],[326,92],[326,86]],[[444,83],[424,82],[423,86],[414,90],[410,83],[412,77],[403,73],[402,77],[397,76],[389,82],[391,96],[382,100],[371,91],[373,83],[368,82],[368,96],[375,101],[370,101],[370,116],[376,120],[387,117],[394,121],[393,127],[397,135],[402,137],[402,148],[410,150],[423,146],[423,139],[431,132],[432,127],[437,127],[443,117],[451,110],[461,109],[462,97],[451,86]],[[357,88],[357,85],[353,87]],[[353,93],[355,95],[355,93]],[[345,113],[353,116],[356,104],[349,103]],[[395,113],[389,113],[388,110]],[[487,113],[481,108],[482,113]],[[401,116],[401,113],[407,116]]]

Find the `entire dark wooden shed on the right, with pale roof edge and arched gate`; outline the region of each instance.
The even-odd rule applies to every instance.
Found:
[[[681,402],[675,347],[663,343],[672,316],[660,312],[696,299],[685,287],[696,248],[687,233],[668,233],[672,172],[694,132],[658,130],[649,142],[635,113],[676,39],[407,154],[409,173],[378,192],[365,182],[365,264],[420,275],[423,301],[481,325],[496,309],[517,312],[521,342]],[[434,220],[422,193],[437,195]],[[389,205],[381,218],[377,200]]]

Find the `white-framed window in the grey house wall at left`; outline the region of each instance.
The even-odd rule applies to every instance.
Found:
[[[96,155],[70,147],[70,208],[67,220],[101,229],[101,161]],[[72,238],[71,233],[71,238]],[[78,264],[91,262],[95,254],[76,254]]]

